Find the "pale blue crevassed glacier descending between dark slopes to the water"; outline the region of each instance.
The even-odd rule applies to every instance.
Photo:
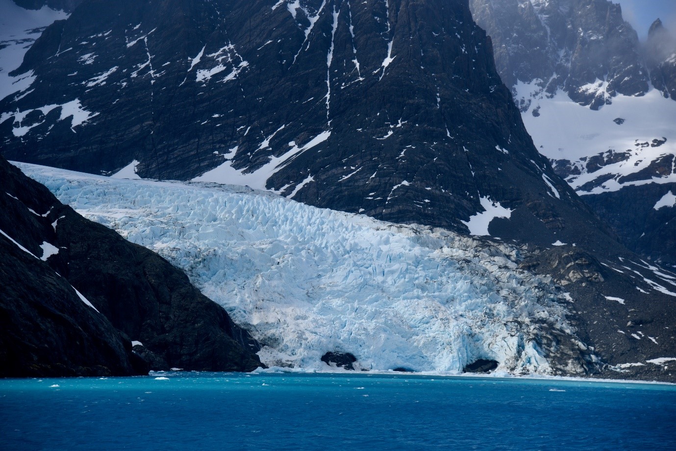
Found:
[[[515,247],[314,208],[236,185],[113,179],[13,163],[78,213],[158,252],[262,345],[268,366],[581,374],[587,347]]]

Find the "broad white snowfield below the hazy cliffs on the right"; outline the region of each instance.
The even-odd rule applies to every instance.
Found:
[[[596,156],[611,149],[616,153],[631,153],[629,159],[623,162],[608,164],[592,173],[583,170],[580,176],[569,177],[568,181],[574,189],[578,190],[585,183],[605,174],[612,174],[619,179],[639,172],[660,156],[676,155],[676,102],[665,99],[656,89],[651,89],[642,97],[612,97],[612,104],[603,105],[600,110],[594,111],[575,103],[562,91],[548,98],[536,85],[537,82],[539,80],[518,82],[514,88],[514,99],[517,103],[520,100],[531,101],[528,110],[522,113],[522,118],[540,153],[554,160],[570,160],[581,168],[585,166],[581,158]],[[533,115],[535,110],[539,114],[537,117]],[[617,124],[614,122],[616,119],[624,122]],[[667,142],[658,147],[641,145],[664,138]],[[610,179],[603,187],[578,193],[602,193],[617,191],[627,185],[673,182],[676,182],[676,174],[622,184]]]

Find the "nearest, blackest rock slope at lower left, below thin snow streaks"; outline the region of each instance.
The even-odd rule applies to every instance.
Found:
[[[66,279],[5,237],[0,255],[0,377],[143,373],[129,339]]]

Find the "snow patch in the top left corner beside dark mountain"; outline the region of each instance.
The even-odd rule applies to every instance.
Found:
[[[46,6],[31,10],[12,0],[0,0],[0,99],[30,87],[35,79],[32,72],[16,77],[9,76],[9,72],[21,66],[26,51],[42,34],[41,28],[66,18],[64,11]]]

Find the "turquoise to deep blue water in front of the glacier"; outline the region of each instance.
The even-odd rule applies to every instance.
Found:
[[[676,450],[669,385],[158,376],[0,380],[0,450]]]

